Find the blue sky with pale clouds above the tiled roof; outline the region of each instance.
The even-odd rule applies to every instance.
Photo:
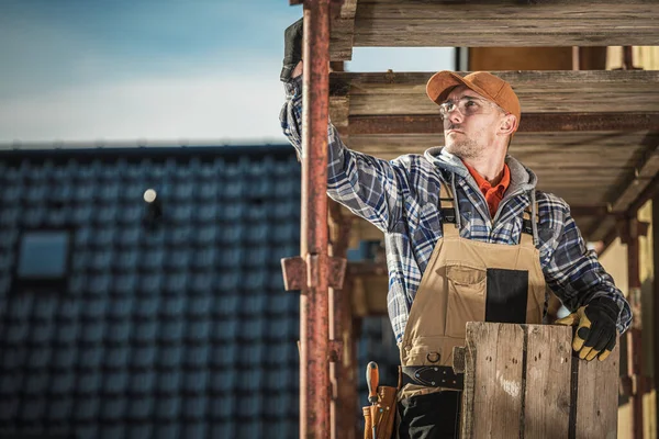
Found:
[[[281,143],[288,0],[0,0],[0,145]],[[351,71],[454,68],[357,48]]]

